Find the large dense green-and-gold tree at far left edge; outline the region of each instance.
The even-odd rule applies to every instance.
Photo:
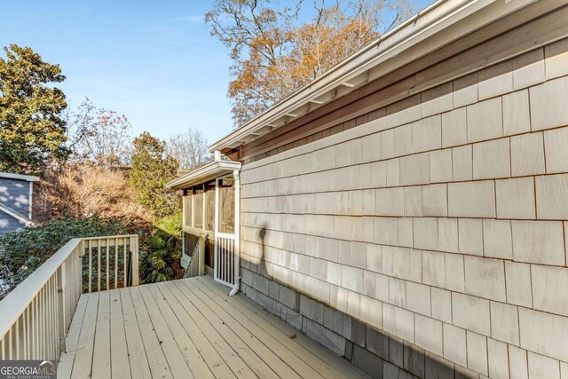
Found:
[[[29,47],[11,44],[0,58],[0,171],[41,173],[63,159],[67,107],[63,91],[53,87],[65,76],[59,65],[44,62]]]

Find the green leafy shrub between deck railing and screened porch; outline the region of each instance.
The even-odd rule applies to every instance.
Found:
[[[140,252],[140,275],[145,283],[176,279],[182,254],[181,214],[156,220],[154,228],[154,234],[142,242],[144,251]]]

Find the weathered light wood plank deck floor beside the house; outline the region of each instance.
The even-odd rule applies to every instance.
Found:
[[[209,276],[81,296],[59,377],[364,377]]]

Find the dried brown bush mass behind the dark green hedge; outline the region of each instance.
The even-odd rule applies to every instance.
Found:
[[[138,204],[137,193],[124,173],[91,165],[67,165],[47,172],[35,196],[34,221],[46,222],[56,217],[92,217],[122,219],[132,230],[153,221],[150,211]]]

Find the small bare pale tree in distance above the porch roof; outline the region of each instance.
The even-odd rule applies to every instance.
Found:
[[[195,170],[213,159],[207,149],[207,139],[201,130],[193,128],[171,136],[166,152],[179,161],[179,170],[184,171]]]

